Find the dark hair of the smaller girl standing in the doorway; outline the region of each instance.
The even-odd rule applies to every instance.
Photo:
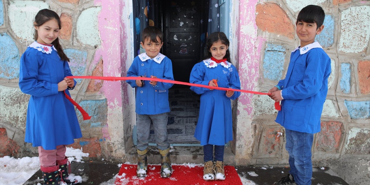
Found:
[[[229,47],[229,45],[230,45],[230,41],[229,41],[228,37],[226,37],[225,33],[223,33],[223,32],[213,32],[213,33],[211,33],[207,37],[207,43],[206,43],[207,50],[206,50],[206,54],[205,54],[204,59],[212,57],[212,54],[209,51],[209,49],[211,49],[213,43],[217,43],[218,41],[221,41],[221,43],[225,44],[227,47]],[[229,48],[228,48],[228,50],[226,50],[225,58],[228,60],[228,62],[231,63]]]

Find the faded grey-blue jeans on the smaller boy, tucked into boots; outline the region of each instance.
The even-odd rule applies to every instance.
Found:
[[[169,148],[167,137],[167,112],[162,114],[136,114],[137,136],[138,144],[137,149],[143,151],[148,148],[149,135],[150,135],[150,122],[153,122],[154,137],[157,147],[160,150]]]

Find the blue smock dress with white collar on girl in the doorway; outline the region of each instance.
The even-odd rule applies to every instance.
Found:
[[[208,85],[217,79],[218,87],[240,89],[240,79],[236,68],[229,63],[217,64],[208,58],[194,65],[190,74],[190,83]],[[229,98],[226,91],[209,90],[203,87],[190,87],[196,94],[201,94],[198,124],[194,137],[201,145],[225,145],[232,141],[231,100],[239,97],[240,92],[234,91]]]

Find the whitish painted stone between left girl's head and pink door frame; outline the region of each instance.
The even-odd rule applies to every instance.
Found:
[[[98,16],[101,7],[91,7],[81,12],[77,20],[77,39],[90,46],[100,45]]]

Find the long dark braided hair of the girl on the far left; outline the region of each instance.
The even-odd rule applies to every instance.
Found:
[[[58,14],[55,13],[55,11],[49,10],[49,9],[42,9],[38,11],[38,13],[35,16],[34,26],[37,26],[37,27],[41,26],[51,19],[57,20],[59,29],[61,29],[60,18]],[[37,34],[37,31],[35,31],[34,39],[37,40],[37,38],[38,38],[38,34]],[[59,38],[56,38],[51,44],[53,44],[53,46],[57,50],[61,60],[68,61],[68,62],[70,61],[67,55],[65,55],[65,53],[63,52],[62,46],[60,46],[59,44]]]

